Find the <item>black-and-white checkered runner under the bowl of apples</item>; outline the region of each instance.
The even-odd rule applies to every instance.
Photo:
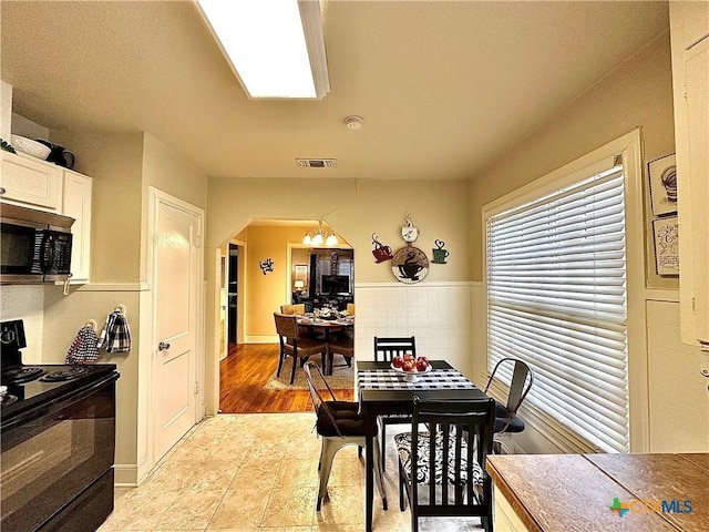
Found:
[[[456,369],[432,369],[415,382],[403,380],[393,369],[363,369],[357,374],[360,390],[474,390],[477,388]]]

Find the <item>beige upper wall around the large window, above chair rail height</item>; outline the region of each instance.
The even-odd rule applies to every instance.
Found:
[[[674,153],[672,109],[669,33],[666,33],[477,174],[470,191],[473,278],[482,279],[483,205],[638,126],[643,130],[645,162]],[[644,171],[647,172],[647,166]],[[645,183],[647,186],[647,178]],[[647,198],[645,203],[647,211]],[[646,215],[648,231],[649,226],[650,217]],[[653,243],[647,241],[648,287],[677,289],[676,277],[655,275]]]

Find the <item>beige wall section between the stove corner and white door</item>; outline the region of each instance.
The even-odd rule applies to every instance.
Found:
[[[76,133],[54,131],[51,139],[76,157],[78,172],[93,177],[91,284],[47,287],[43,298],[42,352],[44,361],[63,362],[66,349],[81,326],[94,319],[99,327],[117,305],[126,307],[132,350],[103,355],[116,364],[121,378],[116,391],[116,482],[134,483],[138,464],[150,468],[146,405],[152,359],[150,330],[141,335],[150,287],[146,250],[150,186],[193,203],[206,204],[206,175],[148,134]],[[18,287],[19,288],[19,287]],[[21,288],[19,288],[21,289]],[[3,305],[4,307],[4,305]]]

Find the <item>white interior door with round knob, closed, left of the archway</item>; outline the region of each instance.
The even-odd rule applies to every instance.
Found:
[[[202,209],[153,191],[154,461],[197,421]]]

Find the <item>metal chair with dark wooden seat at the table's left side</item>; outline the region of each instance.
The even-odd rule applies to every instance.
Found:
[[[302,369],[306,372],[308,390],[316,413],[316,430],[322,438],[320,450],[320,472],[318,483],[318,501],[316,510],[319,512],[322,507],[322,499],[327,498],[328,480],[332,470],[332,460],[337,452],[347,446],[358,446],[360,449],[367,444],[364,438],[364,419],[359,412],[359,403],[350,401],[338,401],[320,370],[320,367],[308,361]],[[326,393],[326,397],[322,397]],[[381,495],[383,509],[387,510],[387,493],[382,482],[381,463],[379,460],[379,443],[377,437],[373,440],[374,456],[374,481]]]

